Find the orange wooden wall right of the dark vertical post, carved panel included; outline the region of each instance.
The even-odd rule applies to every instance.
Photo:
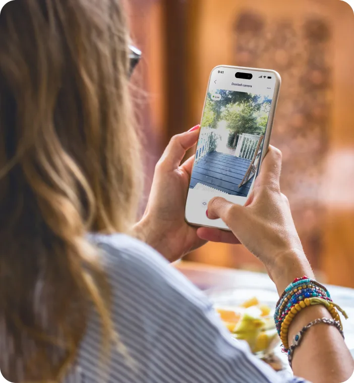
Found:
[[[213,67],[224,63],[281,74],[271,142],[284,155],[283,192],[313,266],[329,282],[354,287],[351,8],[336,0],[194,0],[189,5],[191,123],[199,118]],[[208,244],[192,259],[261,267],[241,246]]]

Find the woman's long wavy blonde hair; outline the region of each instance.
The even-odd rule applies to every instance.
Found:
[[[110,289],[86,233],[136,216],[139,148],[120,0],[14,0],[0,15],[0,370],[60,380]]]

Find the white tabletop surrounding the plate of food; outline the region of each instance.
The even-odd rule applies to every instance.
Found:
[[[278,298],[275,285],[266,274],[185,261],[176,263],[175,267],[202,290],[217,289],[221,291],[225,289],[230,292],[232,289],[245,292],[248,289],[258,290],[262,292],[262,296],[268,302],[274,302],[274,305]],[[354,356],[354,290],[339,286],[327,285],[327,287],[333,301],[341,306],[349,316],[348,320],[345,321],[343,318],[342,322],[345,341]]]

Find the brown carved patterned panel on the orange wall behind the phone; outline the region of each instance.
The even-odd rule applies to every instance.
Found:
[[[309,15],[300,24],[244,11],[234,24],[234,65],[274,69],[282,89],[271,143],[283,152],[281,186],[316,266],[324,207],[319,202],[331,120],[331,30]]]

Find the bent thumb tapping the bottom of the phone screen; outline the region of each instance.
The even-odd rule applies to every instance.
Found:
[[[224,223],[233,230],[237,222],[242,221],[245,215],[245,207],[233,204],[221,197],[215,197],[208,204],[207,216],[209,219],[221,218]]]

